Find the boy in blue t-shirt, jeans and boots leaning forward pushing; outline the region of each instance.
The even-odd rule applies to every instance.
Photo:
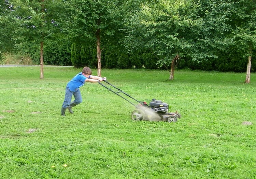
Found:
[[[106,80],[106,77],[102,78],[99,76],[91,75],[91,69],[89,67],[84,67],[82,72],[78,73],[71,79],[66,87],[65,99],[61,108],[61,115],[65,116],[66,109],[73,114],[72,107],[82,103],[82,96],[80,92],[80,87],[84,85],[85,82],[101,82]],[[72,95],[74,95],[75,100],[71,102]]]

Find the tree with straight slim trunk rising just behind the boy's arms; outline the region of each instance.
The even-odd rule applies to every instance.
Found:
[[[118,0],[71,0],[66,2],[70,18],[67,28],[73,41],[95,43],[97,47],[98,76],[101,76],[101,43],[108,41],[117,30]]]

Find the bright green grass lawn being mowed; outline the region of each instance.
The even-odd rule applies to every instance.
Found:
[[[138,100],[162,100],[176,123],[131,121],[134,107],[97,83],[60,115],[81,69],[0,68],[0,178],[256,178],[256,74],[102,70]],[[93,74],[97,74],[94,70]],[[244,125],[251,122],[252,125]],[[63,166],[66,164],[67,166]]]

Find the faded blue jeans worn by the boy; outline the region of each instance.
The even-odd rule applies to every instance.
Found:
[[[70,105],[72,95],[74,95],[74,97],[75,97],[75,100],[73,101],[73,103],[75,105],[82,103],[83,100],[82,100],[82,95],[81,95],[80,89],[76,90],[75,92],[72,92],[69,90],[69,88],[67,86],[66,93],[65,93],[65,99],[62,104],[62,108],[67,108]]]

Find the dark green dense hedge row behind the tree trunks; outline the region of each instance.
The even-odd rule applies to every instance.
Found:
[[[159,69],[157,57],[150,52],[142,50],[127,53],[116,46],[102,47],[101,65],[103,68],[146,68]],[[204,59],[201,62],[192,61],[189,57],[181,58],[178,68],[205,71],[222,71],[222,72],[245,72],[247,58],[241,57],[236,53],[236,49],[229,49],[228,52],[220,51],[216,54],[218,58]],[[71,61],[75,67],[89,66],[97,68],[97,51],[96,46],[73,43],[71,45]],[[162,69],[165,69],[162,67]],[[251,72],[255,72],[256,63],[252,60]]]

